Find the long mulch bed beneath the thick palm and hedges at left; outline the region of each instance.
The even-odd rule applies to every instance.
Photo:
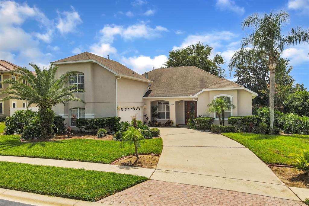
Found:
[[[57,135],[53,136],[50,139],[32,139],[32,140],[22,140],[22,142],[42,142],[42,141],[58,141],[65,139],[99,139],[99,140],[113,140],[113,135],[106,135],[105,137],[97,137],[94,133],[91,132],[80,132],[80,131],[71,131],[73,135],[68,137],[68,135]]]

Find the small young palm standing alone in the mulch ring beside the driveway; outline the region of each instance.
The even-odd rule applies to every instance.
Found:
[[[127,131],[122,133],[121,142],[120,142],[120,147],[124,147],[126,142],[128,142],[129,144],[134,144],[135,156],[137,159],[139,159],[137,148],[141,147],[141,141],[143,142],[145,141],[144,136],[139,130],[142,130],[142,129],[135,129],[134,127],[129,127]]]

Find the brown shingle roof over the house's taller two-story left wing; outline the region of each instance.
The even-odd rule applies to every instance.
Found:
[[[111,59],[107,59],[107,58],[104,58],[104,57],[100,57],[98,55],[91,54],[89,52],[77,54],[77,55],[74,55],[74,56],[71,56],[71,57],[68,57],[68,58],[60,59],[60,60],[55,61],[55,62],[70,62],[70,61],[80,61],[80,60],[90,60],[90,59],[93,59],[93,60],[103,64],[104,66],[110,68],[111,70],[115,71],[116,73],[118,73],[120,75],[127,75],[127,76],[130,76],[130,77],[148,80],[144,76],[139,75],[137,72],[134,72],[133,70],[129,69],[128,67],[122,65],[119,62],[116,62],[116,61],[113,61]]]

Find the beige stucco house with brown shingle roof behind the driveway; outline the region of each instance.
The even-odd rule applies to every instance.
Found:
[[[157,107],[157,121],[162,123],[172,120],[174,125],[185,124],[188,118],[198,115],[216,118],[206,110],[210,101],[220,96],[230,98],[236,106],[226,111],[226,117],[251,115],[252,99],[257,96],[239,84],[194,66],[159,68],[139,75],[119,62],[88,52],[53,64],[59,67],[58,76],[66,71],[77,72],[70,84],[85,90],[75,95],[86,104],[68,102],[54,108],[73,127],[72,114],[88,119],[119,116],[121,121],[130,121],[136,114],[143,121],[144,114],[151,119],[152,106]]]

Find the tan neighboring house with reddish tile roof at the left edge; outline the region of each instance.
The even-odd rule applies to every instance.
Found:
[[[15,69],[19,66],[5,61],[0,60],[0,81],[3,79],[16,79],[18,80],[20,77],[20,74],[15,72]],[[27,84],[26,81],[23,80],[24,84]],[[5,88],[9,87],[9,84],[0,84],[0,92],[2,92]],[[8,96],[8,94],[2,94],[0,97]],[[0,118],[11,116],[15,113],[17,110],[26,109],[27,107],[27,101],[23,100],[7,100],[4,102],[0,102]],[[31,108],[32,109],[32,108]],[[33,110],[36,110],[34,108]]]

